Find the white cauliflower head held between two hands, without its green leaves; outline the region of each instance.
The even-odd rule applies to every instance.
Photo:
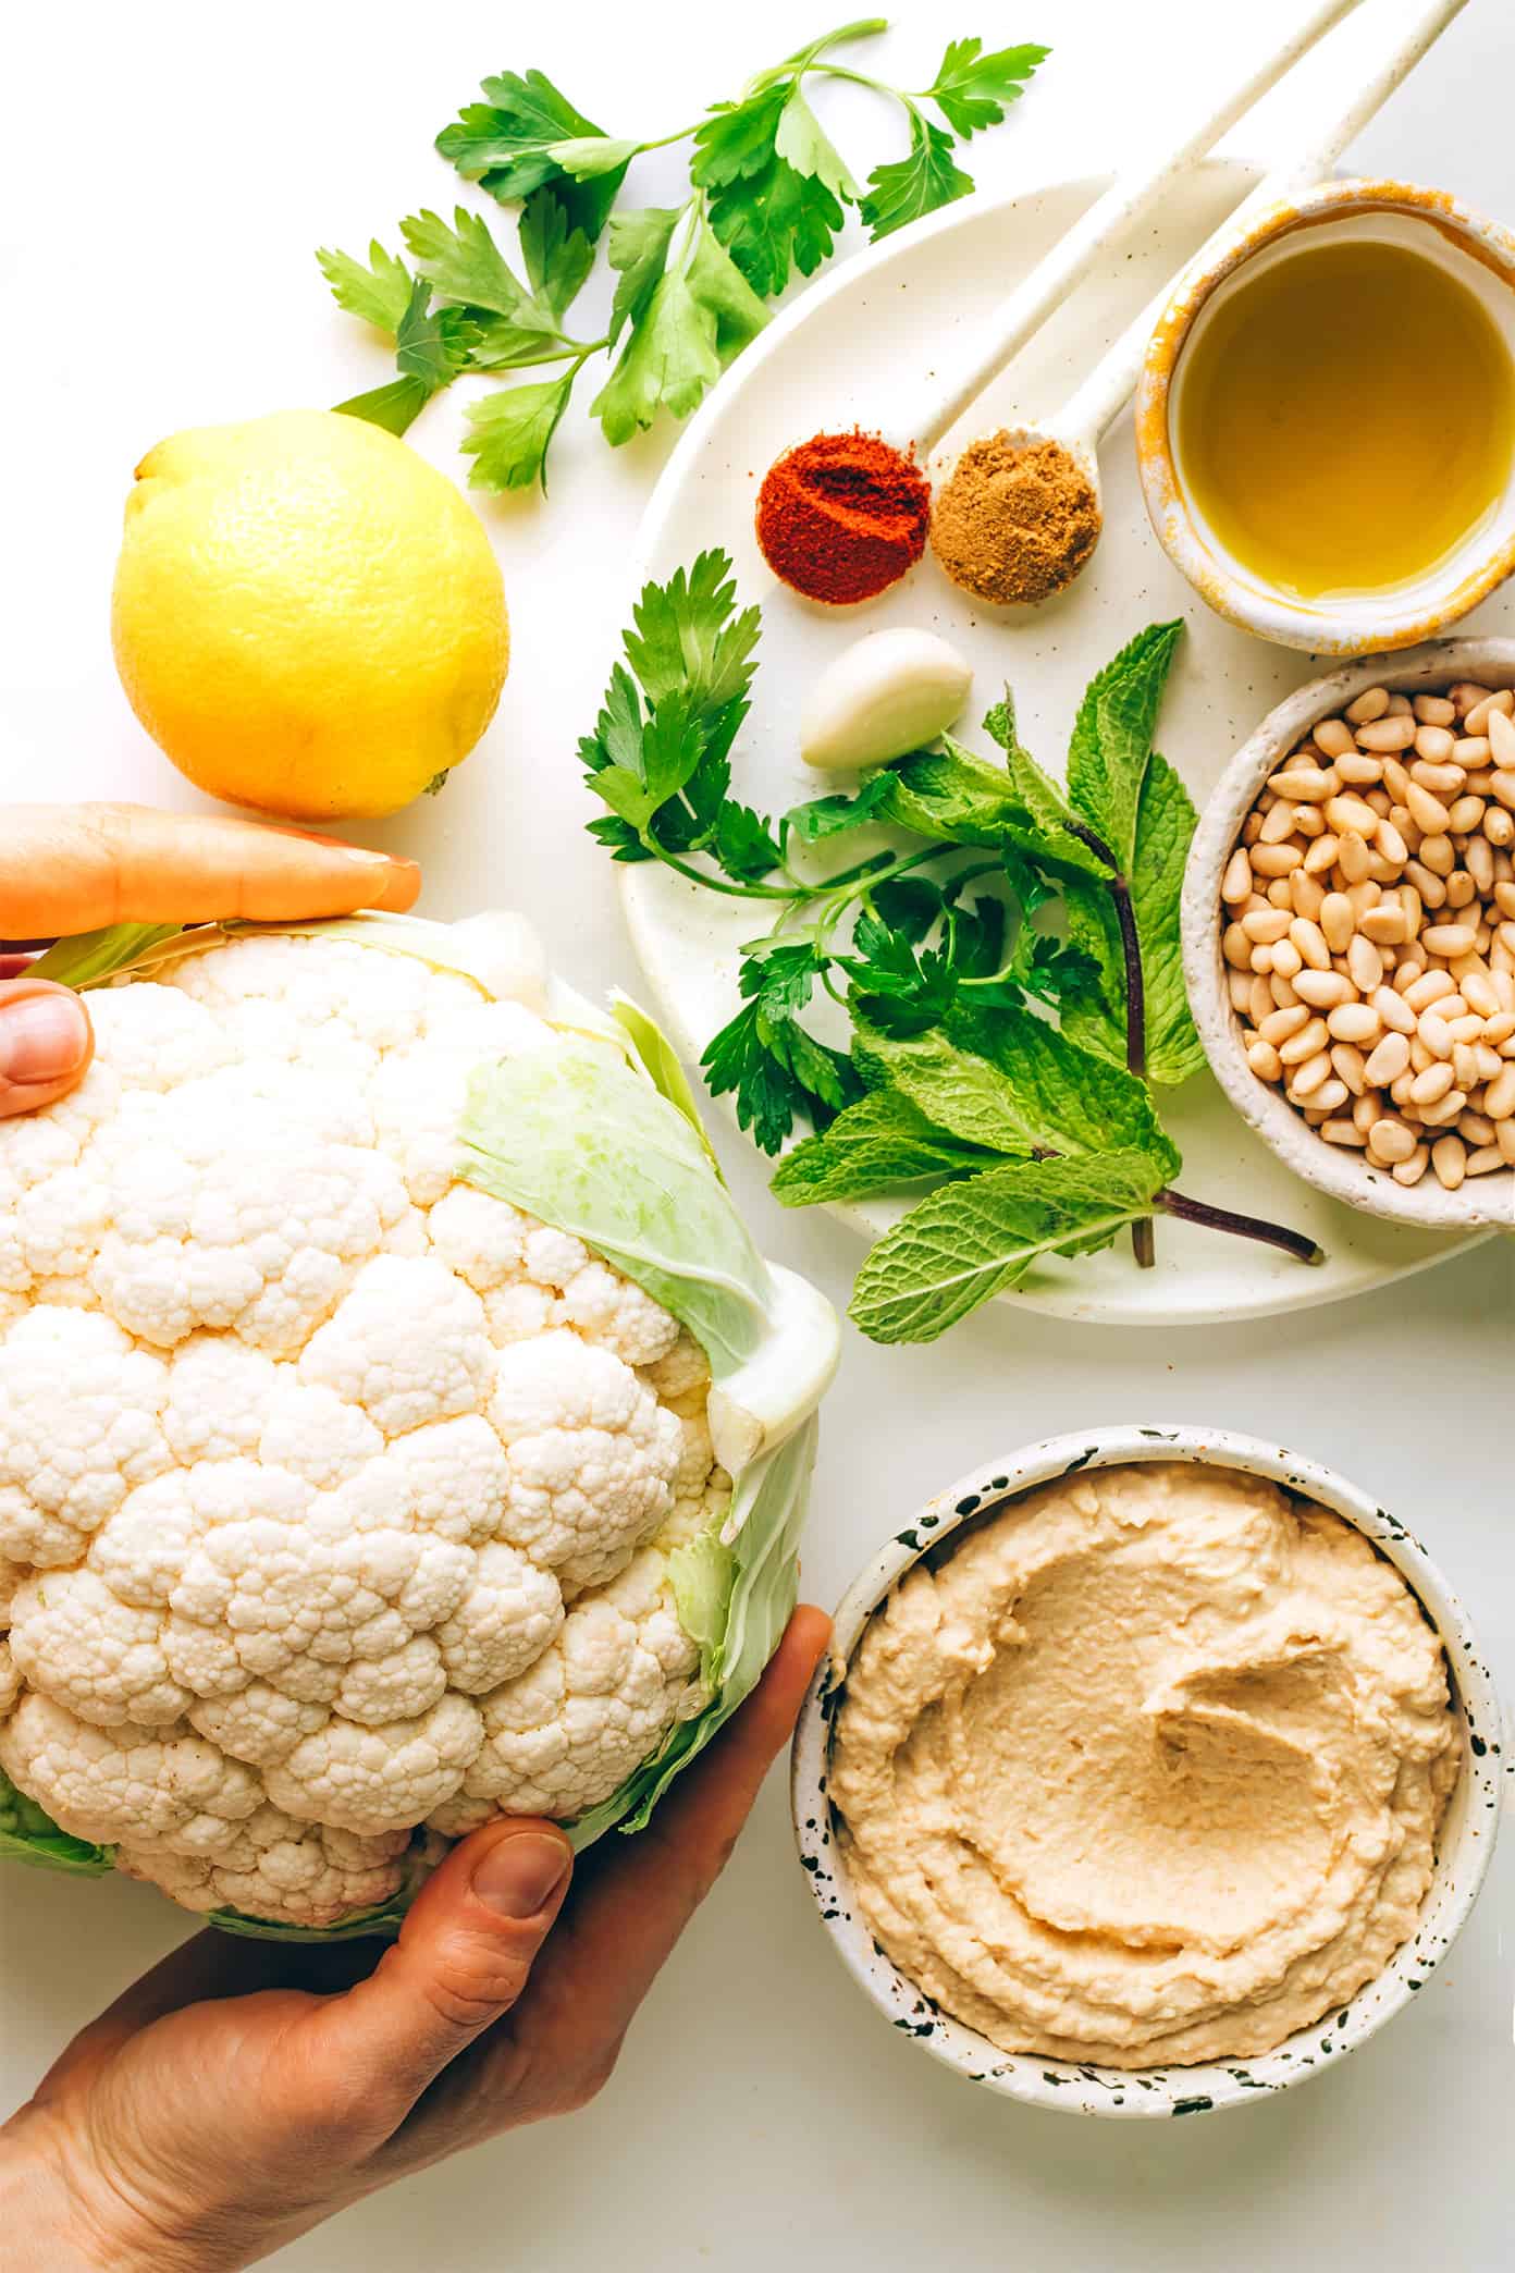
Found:
[[[463,1180],[479,1068],[568,1048],[541,964],[409,936],[211,934],[0,1125],[0,1848],[268,1930],[393,1916],[497,1814],[602,1827],[734,1687],[706,1350]]]

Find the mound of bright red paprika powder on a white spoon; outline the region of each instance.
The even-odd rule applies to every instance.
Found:
[[[811,434],[768,468],[756,539],[806,600],[852,607],[897,584],[924,552],[931,486],[877,434]]]

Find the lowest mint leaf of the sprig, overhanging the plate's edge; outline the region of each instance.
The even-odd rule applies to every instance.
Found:
[[[943,1184],[870,1250],[847,1316],[870,1341],[936,1341],[1043,1255],[1111,1246],[1161,1184],[1142,1152],[1006,1162]]]

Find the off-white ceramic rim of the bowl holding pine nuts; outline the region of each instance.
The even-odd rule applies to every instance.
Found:
[[[1322,680],[1299,686],[1236,752],[1199,816],[1183,871],[1183,982],[1204,1055],[1215,1080],[1236,1105],[1247,1127],[1272,1146],[1279,1159],[1306,1184],[1363,1207],[1390,1223],[1413,1223],[1422,1232],[1470,1232],[1483,1225],[1515,1230],[1515,1168],[1476,1175],[1447,1191],[1433,1175],[1420,1184],[1397,1184],[1388,1168],[1376,1168],[1349,1146],[1326,1143],[1297,1114],[1281,1089],[1261,1082],[1242,1052],[1240,1018],[1231,1009],[1227,966],[1220,952],[1222,905],[1220,880],[1242,821],[1258,789],[1306,727],[1354,702],[1367,686],[1390,693],[1429,693],[1456,680],[1479,686],[1515,686],[1515,639],[1429,639],[1406,655],[1370,655],[1345,664]]]

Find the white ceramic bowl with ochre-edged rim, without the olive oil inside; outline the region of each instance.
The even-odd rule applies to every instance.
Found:
[[[1515,568],[1515,473],[1488,518],[1413,584],[1381,593],[1299,600],[1261,582],[1195,511],[1174,443],[1190,339],[1242,270],[1288,259],[1301,243],[1367,236],[1408,245],[1467,284],[1515,355],[1515,236],[1445,189],[1413,182],[1322,182],[1265,211],[1242,236],[1186,275],[1147,348],[1136,393],[1136,455],[1152,527],[1202,600],[1247,632],[1315,655],[1408,648],[1456,623]]]

